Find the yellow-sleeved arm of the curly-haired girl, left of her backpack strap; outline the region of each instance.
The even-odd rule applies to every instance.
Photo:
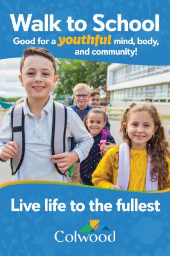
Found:
[[[114,151],[115,148],[108,150],[96,167],[96,170],[92,175],[94,186],[102,188],[112,188],[112,186],[114,186]]]

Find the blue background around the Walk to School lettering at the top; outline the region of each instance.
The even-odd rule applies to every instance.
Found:
[[[94,61],[107,61],[107,62],[117,62],[117,63],[131,63],[139,65],[169,65],[169,21],[170,21],[170,1],[169,0],[99,0],[98,2],[90,0],[63,0],[63,1],[6,1],[1,0],[1,12],[0,12],[0,33],[1,33],[1,58],[11,58],[11,57],[21,57],[23,49],[27,45],[14,45],[13,38],[19,37],[20,39],[31,39],[33,37],[42,37],[43,39],[57,39],[58,36],[83,36],[90,34],[95,36],[100,34],[101,36],[112,35],[113,38],[129,39],[134,37],[140,37],[142,39],[149,39],[153,37],[159,40],[159,45],[156,47],[140,45],[137,47],[131,45],[100,45],[98,49],[125,49],[125,47],[134,49],[137,47],[137,55],[134,57],[118,56],[118,55],[81,55],[76,57],[74,54],[75,50],[86,50],[88,47],[90,49],[96,49],[95,46],[91,45],[64,45],[58,47],[56,45],[34,45],[34,46],[45,46],[47,47],[55,57],[58,58],[68,58],[68,59],[86,59]],[[18,14],[23,13],[25,17],[27,14],[32,13],[33,19],[43,19],[44,14],[54,14],[55,19],[61,19],[59,27],[62,31],[54,32],[33,32],[30,29],[28,32],[20,29],[18,32],[13,30],[12,22],[10,19],[10,13],[14,13],[15,17]],[[131,21],[132,19],[139,19],[141,22],[145,19],[155,19],[155,14],[159,14],[159,26],[160,31],[155,32],[144,32],[142,29],[138,32],[109,32],[104,29],[101,33],[93,31],[93,27],[97,26],[93,22],[93,15],[96,13],[104,14],[103,21],[109,19],[115,19],[117,14],[122,14],[122,19],[127,19]],[[82,32],[70,32],[67,28],[66,20],[68,16],[72,19],[84,19],[87,22],[87,29]],[[3,37],[2,37],[3,35]]]

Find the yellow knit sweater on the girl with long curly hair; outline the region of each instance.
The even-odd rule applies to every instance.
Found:
[[[116,185],[118,176],[118,152],[119,147],[113,147],[109,149],[107,154],[102,158],[93,173],[92,181],[94,186],[111,188],[113,185]],[[170,159],[167,157],[166,161],[169,165],[168,180],[170,181]],[[130,175],[128,190],[145,191],[147,165],[148,153],[146,149],[130,150]],[[169,181],[167,183],[167,187],[170,186]]]

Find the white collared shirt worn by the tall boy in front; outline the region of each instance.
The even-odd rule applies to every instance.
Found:
[[[74,151],[79,157],[79,162],[82,162],[93,145],[93,138],[87,132],[82,120],[75,111],[67,108],[67,112],[66,151],[70,151],[68,138],[74,137],[78,143]],[[25,114],[25,155],[22,165],[14,175],[13,180],[43,179],[66,181],[64,175],[56,171],[51,161],[52,96],[50,95],[50,99],[41,112],[41,119],[31,113],[27,105],[27,98],[23,102],[23,113]],[[4,144],[11,140],[11,110],[9,110],[4,117],[3,126],[0,130],[0,154]]]

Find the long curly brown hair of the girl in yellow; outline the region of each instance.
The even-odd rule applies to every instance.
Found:
[[[170,157],[170,151],[168,142],[165,138],[164,127],[161,124],[161,119],[156,107],[152,103],[132,103],[129,108],[124,111],[121,119],[120,133],[122,134],[123,140],[131,147],[131,139],[129,139],[128,134],[126,134],[125,123],[128,122],[131,113],[142,111],[147,112],[152,117],[155,127],[157,126],[154,136],[147,141],[147,151],[151,156],[151,179],[153,181],[158,179],[158,188],[164,189],[169,173],[166,156]]]

